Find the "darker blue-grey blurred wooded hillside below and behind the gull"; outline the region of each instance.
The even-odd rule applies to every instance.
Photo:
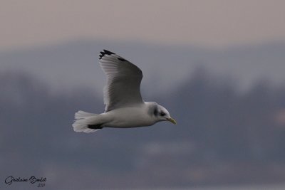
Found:
[[[167,93],[147,97],[165,105],[178,125],[92,134],[71,127],[77,110],[103,111],[92,88],[55,93],[38,76],[16,70],[1,70],[0,87],[1,181],[44,176],[46,189],[285,181],[285,85],[259,80],[240,93],[232,78],[198,67]]]

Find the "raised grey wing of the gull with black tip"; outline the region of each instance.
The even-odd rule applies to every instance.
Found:
[[[115,53],[106,50],[100,53],[99,63],[107,75],[107,85],[104,88],[105,112],[142,103],[142,70]]]

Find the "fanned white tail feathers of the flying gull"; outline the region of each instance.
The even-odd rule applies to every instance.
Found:
[[[88,119],[91,117],[96,116],[97,114],[94,113],[88,113],[88,112],[83,112],[83,111],[78,111],[75,114],[75,119],[76,121],[73,122],[73,130],[75,132],[95,132],[98,130],[93,130],[88,128]]]

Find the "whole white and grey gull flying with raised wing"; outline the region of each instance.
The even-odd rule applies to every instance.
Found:
[[[176,124],[165,107],[142,100],[140,68],[110,51],[100,53],[99,63],[108,81],[104,88],[105,112],[76,112],[76,121],[72,125],[74,131],[95,132],[103,127],[144,127],[160,121]]]

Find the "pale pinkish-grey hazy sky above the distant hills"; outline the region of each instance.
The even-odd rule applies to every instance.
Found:
[[[212,47],[285,41],[283,0],[0,2],[0,49],[80,38]]]

